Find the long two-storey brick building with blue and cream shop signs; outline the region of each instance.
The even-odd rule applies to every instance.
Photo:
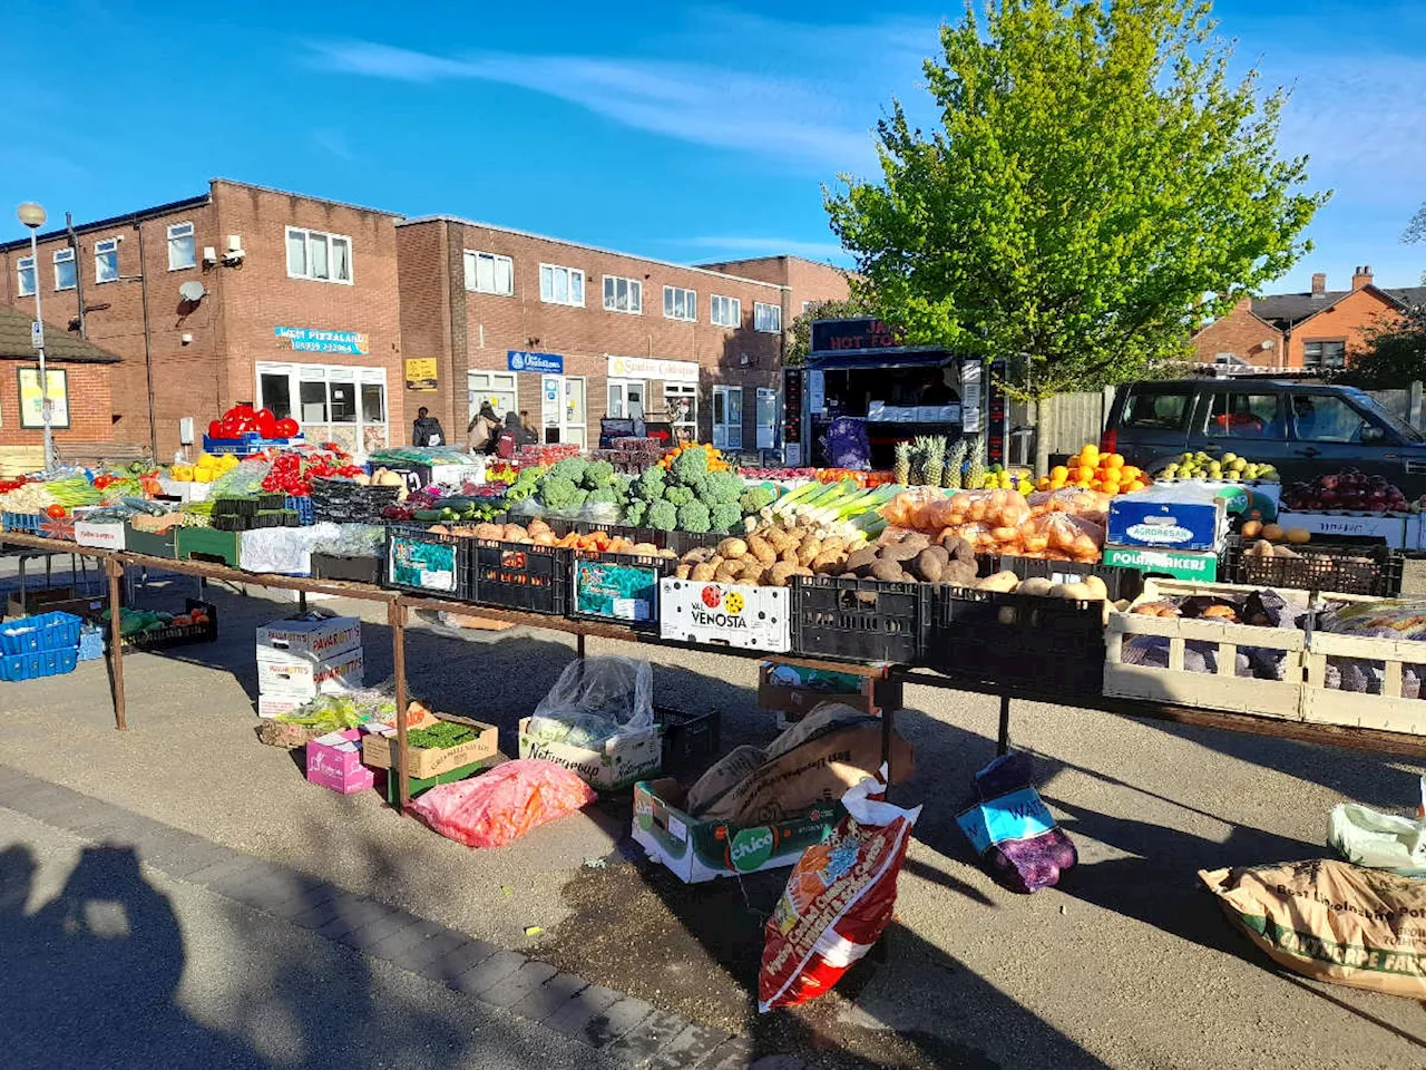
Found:
[[[846,295],[840,271],[796,257],[689,267],[446,215],[399,223],[396,243],[405,352],[435,361],[406,409],[449,437],[489,399],[545,441],[593,445],[602,417],[643,415],[771,448],[783,328]]]

